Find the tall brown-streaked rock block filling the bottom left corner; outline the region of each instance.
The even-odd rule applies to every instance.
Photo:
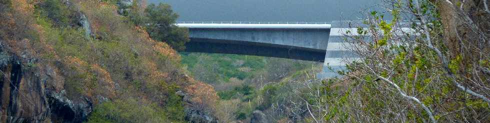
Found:
[[[2,60],[9,60],[9,63],[0,68],[0,122],[45,121],[50,113],[44,82],[34,72],[24,68],[21,57],[8,57],[11,59]]]

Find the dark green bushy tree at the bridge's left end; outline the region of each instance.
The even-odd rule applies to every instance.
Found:
[[[188,29],[177,27],[174,23],[178,15],[172,11],[170,5],[159,3],[149,4],[146,9],[146,31],[151,38],[168,43],[175,50],[185,49],[188,37]]]

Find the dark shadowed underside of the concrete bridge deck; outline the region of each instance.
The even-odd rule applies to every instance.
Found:
[[[314,48],[252,41],[190,38],[185,52],[246,54],[324,62],[325,51]]]

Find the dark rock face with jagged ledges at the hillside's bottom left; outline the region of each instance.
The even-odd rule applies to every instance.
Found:
[[[1,49],[0,49],[1,51]],[[46,89],[48,79],[12,56],[1,65],[0,122],[82,122],[92,110],[88,99],[72,101],[64,93]]]

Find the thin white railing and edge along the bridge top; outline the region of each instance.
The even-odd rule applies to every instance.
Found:
[[[269,21],[177,21],[193,24],[331,24],[331,22],[269,22]]]

